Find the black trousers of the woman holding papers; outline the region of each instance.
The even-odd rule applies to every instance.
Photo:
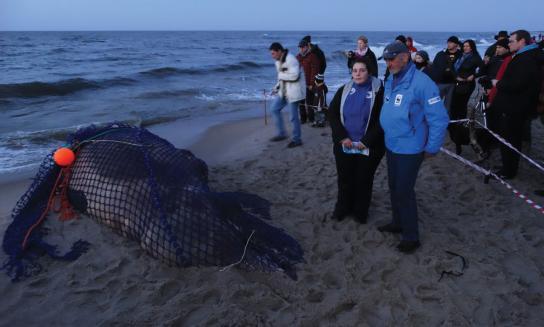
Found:
[[[366,220],[372,199],[374,173],[383,158],[384,150],[370,150],[370,156],[346,154],[340,144],[333,147],[338,173],[338,199],[335,211],[340,215],[353,213]]]

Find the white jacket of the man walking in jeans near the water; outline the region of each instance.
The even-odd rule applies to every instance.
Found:
[[[276,71],[278,83],[275,89],[280,97],[284,97],[289,103],[306,98],[300,64],[295,56],[285,50],[282,58],[276,61]]]

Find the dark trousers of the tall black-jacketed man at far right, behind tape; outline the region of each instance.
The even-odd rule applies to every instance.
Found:
[[[516,115],[500,114],[498,132],[506,142],[521,151],[521,142],[525,127],[525,118]],[[501,143],[502,173],[514,177],[518,173],[519,154]]]

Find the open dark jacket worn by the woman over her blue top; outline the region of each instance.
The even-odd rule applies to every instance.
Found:
[[[377,78],[375,78],[375,81],[379,82]],[[351,82],[346,85],[350,86]],[[344,128],[344,125],[342,124],[343,118],[340,116],[342,111],[342,94],[346,85],[342,86],[338,89],[338,91],[336,91],[336,94],[334,95],[334,98],[329,105],[328,118],[332,129],[332,141],[334,144],[339,144],[340,141],[342,141],[343,139],[349,138],[349,134]],[[383,105],[383,86],[381,86],[381,82],[379,82],[379,84],[375,83],[374,85],[376,85],[372,87],[374,104],[370,109],[370,118],[368,120],[368,126],[366,128],[365,135],[360,140],[352,141],[362,142],[366,147],[371,150],[384,150],[385,145],[383,129],[381,128],[379,121],[380,112]]]

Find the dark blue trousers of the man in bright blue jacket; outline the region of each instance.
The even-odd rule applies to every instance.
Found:
[[[398,154],[387,150],[387,173],[393,224],[402,228],[402,239],[419,240],[417,222],[416,185],[417,173],[423,161],[423,153]]]

